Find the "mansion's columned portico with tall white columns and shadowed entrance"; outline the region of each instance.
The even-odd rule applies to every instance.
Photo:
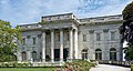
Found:
[[[48,58],[45,55],[49,55],[51,62],[72,60],[74,54],[74,37],[76,36],[74,30],[72,27],[42,30],[42,62],[47,62]],[[50,37],[47,38],[47,36]],[[49,50],[50,52],[47,53]],[[57,53],[57,51],[59,52]],[[58,57],[60,58],[59,60]]]

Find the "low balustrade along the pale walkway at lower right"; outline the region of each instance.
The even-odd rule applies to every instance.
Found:
[[[110,61],[110,60],[100,60],[98,62],[102,64],[115,64],[122,67],[131,67],[131,64],[133,63],[132,61]]]

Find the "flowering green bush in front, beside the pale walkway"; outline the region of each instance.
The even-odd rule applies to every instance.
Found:
[[[85,60],[78,60],[73,62],[66,62],[63,68],[70,69],[72,71],[89,71],[91,67],[95,67],[95,63],[91,63]]]

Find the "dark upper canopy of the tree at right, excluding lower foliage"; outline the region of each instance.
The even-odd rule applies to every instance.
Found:
[[[133,2],[125,7],[122,14],[124,20],[123,24],[120,27],[122,42],[127,41],[129,44],[133,44]]]

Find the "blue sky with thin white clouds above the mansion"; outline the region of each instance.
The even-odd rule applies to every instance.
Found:
[[[132,0],[0,0],[0,19],[12,27],[40,22],[41,17],[74,13],[78,18],[121,14]]]

